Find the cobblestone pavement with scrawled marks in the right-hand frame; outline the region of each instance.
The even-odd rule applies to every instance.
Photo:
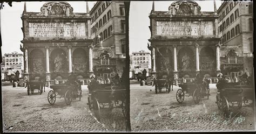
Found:
[[[136,132],[179,131],[254,131],[254,108],[231,108],[231,118],[225,118],[218,110],[217,88],[210,84],[210,97],[195,104],[193,97],[185,95],[184,102],[176,100],[178,86],[169,94],[162,90],[156,94],[152,86],[139,86],[130,82],[131,129]]]

